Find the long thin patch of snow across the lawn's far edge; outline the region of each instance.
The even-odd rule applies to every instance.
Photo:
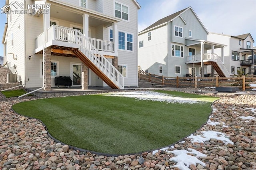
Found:
[[[202,101],[191,98],[175,97],[164,93],[158,93],[154,91],[134,91],[134,92],[116,92],[103,94],[108,96],[118,96],[118,97],[131,97],[139,100],[149,100],[149,101],[160,101],[167,103],[202,103]]]

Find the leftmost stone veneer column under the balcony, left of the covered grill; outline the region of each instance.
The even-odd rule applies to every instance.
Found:
[[[44,49],[44,90],[48,91],[52,88],[52,76],[51,76],[51,47]]]

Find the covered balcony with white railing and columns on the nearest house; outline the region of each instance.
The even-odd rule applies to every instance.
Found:
[[[50,12],[40,15],[44,18],[45,26],[43,32],[36,37],[35,53],[42,53],[45,39],[45,47],[66,50],[64,54],[52,51],[52,55],[74,57],[68,53],[68,50],[80,47],[79,32],[105,57],[118,56],[117,22],[120,21],[119,19],[86,8],[67,6],[68,4],[65,3],[52,2]],[[110,29],[112,30],[111,40]]]

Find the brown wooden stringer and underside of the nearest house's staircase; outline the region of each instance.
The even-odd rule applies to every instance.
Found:
[[[88,57],[84,55],[79,49],[74,49],[73,53],[78,57],[89,69],[91,69],[98,77],[100,77],[112,89],[120,89],[111,79],[106,76]]]

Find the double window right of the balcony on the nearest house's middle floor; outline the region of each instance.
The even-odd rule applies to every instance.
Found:
[[[118,32],[118,48],[133,51],[133,34]]]

